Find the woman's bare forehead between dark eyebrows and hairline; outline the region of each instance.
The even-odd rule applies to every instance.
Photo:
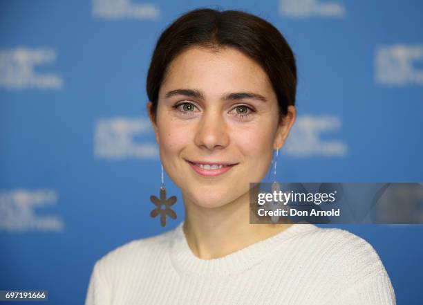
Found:
[[[178,55],[169,64],[160,91],[187,87],[210,95],[247,90],[276,98],[263,68],[236,48],[191,47]]]

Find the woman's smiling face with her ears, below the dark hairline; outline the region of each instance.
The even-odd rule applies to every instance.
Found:
[[[189,48],[171,62],[152,120],[162,165],[186,201],[231,203],[264,178],[294,123],[289,111],[279,124],[267,74],[240,51]]]

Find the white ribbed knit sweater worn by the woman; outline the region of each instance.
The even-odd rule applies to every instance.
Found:
[[[395,304],[379,256],[346,230],[295,224],[205,260],[191,252],[182,225],[97,261],[85,304]]]

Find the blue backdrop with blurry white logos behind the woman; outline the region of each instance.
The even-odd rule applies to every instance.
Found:
[[[180,201],[167,228],[149,216],[144,88],[158,35],[200,6],[267,19],[297,55],[278,181],[423,181],[422,1],[1,0],[0,290],[82,304],[97,259],[184,218]],[[342,228],[377,250],[397,304],[422,304],[421,225]]]

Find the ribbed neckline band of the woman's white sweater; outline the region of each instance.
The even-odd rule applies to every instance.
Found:
[[[318,228],[310,223],[294,223],[289,228],[267,239],[216,259],[200,259],[189,248],[182,221],[174,230],[170,241],[169,256],[173,267],[185,275],[234,275],[260,264],[292,237]]]

